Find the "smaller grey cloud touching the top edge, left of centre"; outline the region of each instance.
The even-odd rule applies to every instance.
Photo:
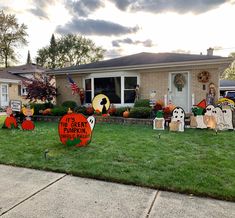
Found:
[[[65,2],[65,7],[69,10],[70,13],[77,17],[87,17],[98,8],[104,7],[104,5],[105,4],[102,0],[67,0]]]

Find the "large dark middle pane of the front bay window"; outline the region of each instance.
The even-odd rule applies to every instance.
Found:
[[[110,103],[121,103],[121,77],[94,78],[94,94],[106,95]]]

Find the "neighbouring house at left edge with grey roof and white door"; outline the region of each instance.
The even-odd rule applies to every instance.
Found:
[[[22,81],[44,72],[45,69],[35,64],[0,68],[0,107],[8,106],[10,100],[21,100],[22,103],[27,103],[28,100],[25,99],[27,90]]]

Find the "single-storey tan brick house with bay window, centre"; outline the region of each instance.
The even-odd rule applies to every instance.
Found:
[[[192,105],[206,98],[210,83],[214,84],[216,98],[219,97],[219,76],[232,61],[232,58],[213,56],[211,50],[207,55],[139,53],[49,73],[56,78],[58,104],[66,100],[80,103],[79,96],[71,94],[66,79],[69,74],[85,90],[86,103],[103,93],[116,106],[133,105],[138,84],[140,98],[150,99],[150,94],[156,93],[155,99],[172,102],[189,112]],[[204,80],[201,76],[208,78]]]

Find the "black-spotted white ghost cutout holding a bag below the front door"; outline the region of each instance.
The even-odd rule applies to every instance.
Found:
[[[185,126],[184,119],[185,119],[184,109],[181,107],[176,107],[172,111],[171,123],[169,124],[170,131],[184,132],[184,126]]]

